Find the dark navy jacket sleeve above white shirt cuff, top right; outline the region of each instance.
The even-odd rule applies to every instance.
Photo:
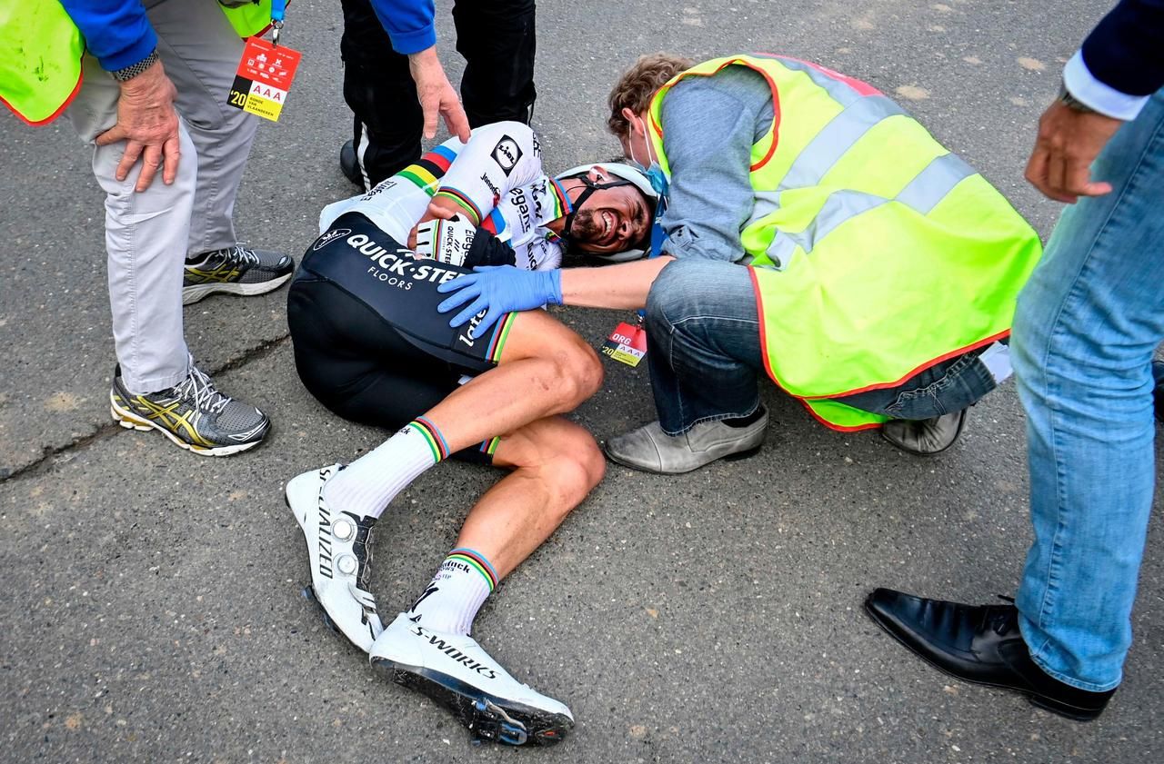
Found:
[[[1084,41],[1087,70],[1108,87],[1149,95],[1164,86],[1164,0],[1122,0]]]

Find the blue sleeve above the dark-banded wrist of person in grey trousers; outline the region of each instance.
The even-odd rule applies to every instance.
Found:
[[[101,69],[133,66],[157,48],[141,0],[61,0]]]

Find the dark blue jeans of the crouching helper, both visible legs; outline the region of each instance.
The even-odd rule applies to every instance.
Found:
[[[647,294],[646,329],[651,387],[668,435],[747,416],[760,405],[764,350],[746,267],[694,257],[670,263]],[[961,410],[995,386],[978,354],[968,352],[896,387],[838,400],[894,419],[930,419]]]

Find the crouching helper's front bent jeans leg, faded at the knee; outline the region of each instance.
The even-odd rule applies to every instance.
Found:
[[[665,433],[755,410],[764,362],[746,267],[677,259],[652,285],[646,313],[647,365]]]

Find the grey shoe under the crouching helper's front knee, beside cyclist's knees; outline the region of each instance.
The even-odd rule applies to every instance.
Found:
[[[701,422],[682,435],[670,436],[651,422],[606,442],[606,456],[624,466],[658,474],[680,474],[716,459],[741,459],[760,450],[768,428],[768,412],[747,427]]]

